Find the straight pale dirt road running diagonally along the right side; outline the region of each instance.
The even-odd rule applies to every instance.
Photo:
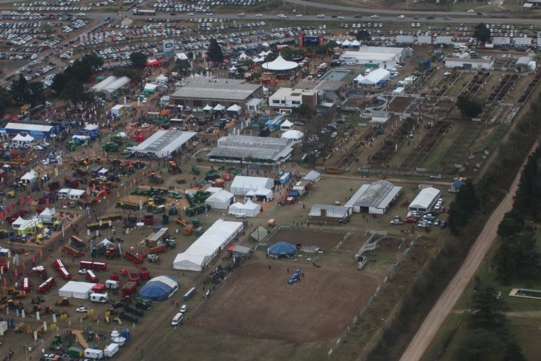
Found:
[[[539,142],[535,142],[531,151],[535,150]],[[522,174],[522,169],[526,164],[526,160],[522,164],[520,171],[515,176],[515,180],[510,187],[510,192],[504,198],[495,211],[490,215],[490,218],[485,224],[485,227],[481,231],[479,237],[475,241],[470,253],[467,255],[464,263],[461,268],[458,269],[456,275],[451,280],[447,288],[438,299],[436,305],[433,306],[432,310],[428,314],[427,318],[424,319],[421,327],[415,334],[415,337],[411,340],[408,348],[400,358],[401,361],[415,361],[420,360],[424,352],[427,351],[434,337],[440,330],[447,315],[452,311],[456,301],[464,292],[464,289],[467,287],[467,284],[470,283],[475,271],[481,265],[481,261],[485,258],[488,249],[492,246],[496,238],[496,232],[498,224],[501,219],[504,217],[504,214],[511,210],[513,207],[513,197],[515,192],[517,192],[517,187]]]

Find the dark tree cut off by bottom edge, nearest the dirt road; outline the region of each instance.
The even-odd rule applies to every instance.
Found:
[[[457,358],[464,361],[487,360],[487,355],[492,355],[503,346],[504,342],[491,330],[471,330],[458,346]]]

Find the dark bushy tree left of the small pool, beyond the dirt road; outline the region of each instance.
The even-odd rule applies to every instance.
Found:
[[[494,287],[490,285],[479,287],[473,294],[471,309],[468,323],[472,328],[485,328],[499,335],[507,333],[505,312],[508,307]]]

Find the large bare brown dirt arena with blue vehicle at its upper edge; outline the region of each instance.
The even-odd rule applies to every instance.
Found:
[[[243,265],[189,324],[248,337],[314,342],[339,335],[377,287],[375,278],[357,271],[314,267],[303,268],[301,281],[289,285],[288,267],[291,274],[291,262]]]

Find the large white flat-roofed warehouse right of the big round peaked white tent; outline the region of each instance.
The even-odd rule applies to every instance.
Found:
[[[340,60],[354,62],[365,67],[390,69],[395,67],[406,56],[408,56],[406,48],[360,47],[359,51],[344,51],[340,56]]]

